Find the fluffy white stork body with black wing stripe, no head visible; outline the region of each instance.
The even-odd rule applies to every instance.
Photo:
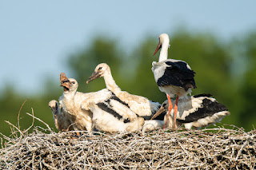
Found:
[[[142,129],[144,119],[108,89],[95,92],[82,103],[82,109],[93,113],[95,128],[104,132],[133,132]]]

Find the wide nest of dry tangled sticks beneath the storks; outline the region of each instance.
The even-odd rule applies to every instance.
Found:
[[[114,135],[80,132],[78,136],[53,132],[48,125],[30,127],[32,132],[11,126],[12,135],[1,138],[0,169],[256,168],[255,129],[245,132],[226,125]]]

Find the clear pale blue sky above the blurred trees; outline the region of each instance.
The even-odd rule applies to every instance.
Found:
[[[256,1],[1,1],[0,90],[13,84],[38,93],[42,77],[58,81],[65,61],[98,34],[119,38],[128,51],[147,35],[178,26],[233,38],[256,29]],[[170,35],[171,38],[171,35]]]

